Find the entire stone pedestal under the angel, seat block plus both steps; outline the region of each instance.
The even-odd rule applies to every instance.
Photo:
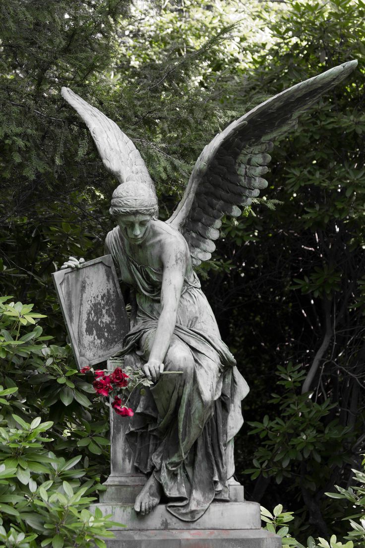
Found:
[[[123,367],[108,361],[108,369]],[[146,476],[133,464],[133,455],[125,440],[130,419],[111,413],[111,474],[107,490],[100,495],[98,507],[103,515],[125,527],[112,528],[115,538],[106,540],[108,548],[280,548],[280,536],[260,529],[260,506],[244,500],[244,488],[229,488],[230,502],[213,502],[195,522],[173,516],[159,504],[147,516],[134,510],[136,495]]]

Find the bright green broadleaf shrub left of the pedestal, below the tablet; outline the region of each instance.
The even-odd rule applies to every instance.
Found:
[[[101,548],[113,522],[88,508],[108,473],[108,409],[44,317],[0,299],[0,546]]]

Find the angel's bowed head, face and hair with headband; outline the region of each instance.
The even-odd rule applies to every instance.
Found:
[[[141,244],[150,230],[152,218],[158,215],[157,198],[152,190],[140,182],[125,182],[113,192],[109,213],[133,244]]]

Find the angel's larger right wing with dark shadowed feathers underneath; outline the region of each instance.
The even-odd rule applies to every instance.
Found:
[[[167,220],[186,238],[194,265],[211,258],[223,215],[238,216],[268,183],[261,177],[271,142],[297,125],[302,112],[356,67],[349,61],[300,82],[228,125],[204,148],[176,211]]]

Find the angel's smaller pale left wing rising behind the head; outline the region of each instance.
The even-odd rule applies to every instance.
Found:
[[[143,182],[155,194],[155,187],[143,158],[118,125],[71,89],[62,88],[61,94],[88,126],[103,164],[115,179],[120,183],[130,180]]]

